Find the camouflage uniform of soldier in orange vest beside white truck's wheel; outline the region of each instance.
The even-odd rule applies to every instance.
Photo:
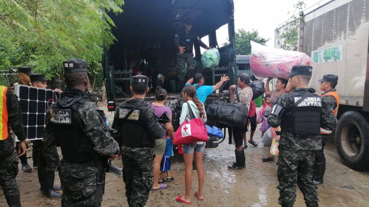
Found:
[[[336,90],[332,89],[332,90],[324,92],[324,94],[326,94],[330,91],[336,91]],[[334,98],[334,96],[327,95],[327,96],[323,97],[323,99],[331,105],[332,109],[335,109],[337,107],[337,100],[336,100],[336,98]],[[325,156],[324,156],[324,151],[323,150],[324,150],[324,146],[327,143],[328,138],[329,138],[330,135],[320,134],[320,136],[321,136],[321,139],[322,139],[322,148],[319,149],[319,150],[315,150],[314,168],[317,171],[320,170],[322,172],[321,173],[321,176],[322,176],[321,178],[323,180],[323,175],[324,175],[324,172],[325,172]]]

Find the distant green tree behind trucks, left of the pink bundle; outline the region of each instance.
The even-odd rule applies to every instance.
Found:
[[[254,29],[252,29],[252,32],[246,31],[245,29],[238,29],[238,32],[235,33],[236,54],[251,55],[250,41],[254,41],[261,45],[265,45],[265,43],[268,42],[269,39],[270,38],[265,39],[260,37],[259,32]],[[225,42],[223,43],[223,46],[228,44],[229,42]]]

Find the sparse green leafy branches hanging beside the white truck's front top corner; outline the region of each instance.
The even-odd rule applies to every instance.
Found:
[[[299,10],[299,17],[296,15],[292,15],[283,25],[283,32],[279,34],[279,39],[277,41],[278,46],[284,50],[297,50],[297,42],[299,40],[299,27],[300,27],[300,20],[303,18],[303,9],[306,7],[304,1],[298,1],[296,4],[293,4],[295,8],[295,12]],[[289,12],[288,12],[289,14]],[[280,31],[277,30],[279,33]]]

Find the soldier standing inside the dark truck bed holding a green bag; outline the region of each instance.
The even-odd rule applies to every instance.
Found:
[[[184,20],[185,28],[176,32],[174,35],[174,45],[178,48],[177,52],[177,63],[176,69],[178,74],[178,79],[182,86],[184,86],[184,81],[186,77],[186,71],[184,71],[184,64],[187,64],[187,77],[192,78],[195,73],[195,63],[193,62],[193,44],[199,44],[205,49],[210,49],[205,43],[203,43],[192,29],[192,20],[186,18]]]

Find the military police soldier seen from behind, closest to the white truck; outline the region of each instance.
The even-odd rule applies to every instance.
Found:
[[[320,127],[333,130],[337,119],[332,108],[308,88],[311,66],[293,66],[290,77],[292,92],[281,95],[268,123],[281,126],[278,158],[279,200],[283,207],[292,207],[296,200],[296,184],[308,207],[318,206],[313,184],[314,153],[322,147]]]

